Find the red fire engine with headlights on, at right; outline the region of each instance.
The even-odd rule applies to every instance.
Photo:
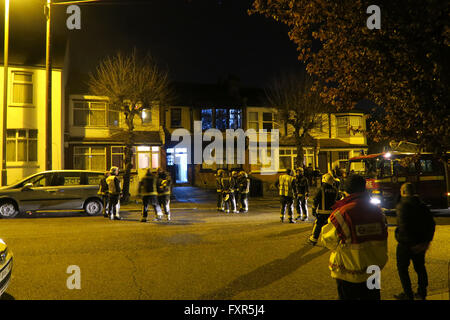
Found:
[[[395,209],[400,200],[400,186],[412,182],[419,197],[430,208],[449,207],[448,164],[423,153],[417,161],[405,164],[402,159],[412,153],[386,152],[349,159],[347,174],[358,173],[366,178],[371,202],[381,208]]]

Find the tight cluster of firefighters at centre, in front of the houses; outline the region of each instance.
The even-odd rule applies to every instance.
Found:
[[[217,210],[225,213],[247,213],[250,179],[245,171],[223,169],[216,173]],[[239,207],[239,209],[238,209]]]

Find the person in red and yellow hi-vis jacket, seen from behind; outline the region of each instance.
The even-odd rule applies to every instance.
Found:
[[[333,206],[320,237],[332,250],[331,277],[340,300],[380,300],[379,280],[371,283],[368,278],[373,274],[369,267],[381,272],[388,260],[386,217],[370,203],[362,176],[347,178],[344,191],[346,197]]]

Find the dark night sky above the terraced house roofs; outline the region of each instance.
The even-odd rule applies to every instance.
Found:
[[[41,30],[45,41],[43,0],[11,3],[11,37]],[[82,5],[81,30],[73,31],[66,29],[66,6],[55,6],[53,32],[70,39],[71,70],[93,71],[102,58],[136,47],[167,66],[174,81],[217,83],[232,74],[242,85],[264,86],[276,74],[302,65],[286,26],[249,16],[251,3],[131,0]]]

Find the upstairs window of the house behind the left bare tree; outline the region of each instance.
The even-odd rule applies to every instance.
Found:
[[[88,100],[74,101],[73,124],[81,127],[106,126],[106,102]]]

